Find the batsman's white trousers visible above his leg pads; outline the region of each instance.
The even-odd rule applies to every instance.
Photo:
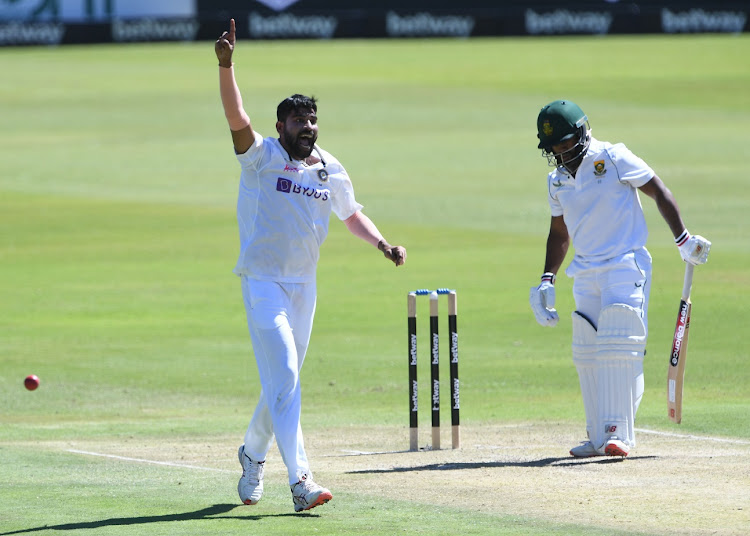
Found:
[[[574,277],[576,311],[597,327],[607,305],[624,303],[635,309],[648,333],[648,297],[651,291],[651,254],[646,248],[584,267],[573,262],[566,273]]]

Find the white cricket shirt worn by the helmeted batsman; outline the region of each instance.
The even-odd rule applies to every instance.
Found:
[[[594,138],[575,178],[559,169],[547,176],[552,216],[563,217],[575,249],[569,276],[645,247],[648,229],[638,187],[653,176],[622,143]]]

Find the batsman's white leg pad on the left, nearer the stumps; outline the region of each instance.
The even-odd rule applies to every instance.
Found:
[[[583,409],[586,413],[586,431],[589,440],[593,441],[594,426],[597,423],[597,388],[596,388],[596,329],[588,318],[578,311],[573,311],[573,363],[578,371],[581,384]],[[595,447],[601,445],[594,443]]]

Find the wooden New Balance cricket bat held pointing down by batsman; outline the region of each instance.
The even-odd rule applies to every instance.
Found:
[[[682,421],[682,387],[685,381],[685,358],[687,357],[688,334],[690,333],[690,289],[693,286],[693,266],[685,265],[685,282],[682,285],[680,309],[672,338],[672,353],[669,355],[667,372],[667,414],[669,420],[680,424]]]

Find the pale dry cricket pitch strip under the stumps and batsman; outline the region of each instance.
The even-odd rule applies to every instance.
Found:
[[[442,450],[429,449],[426,427],[416,452],[408,450],[406,427],[307,430],[305,443],[315,479],[331,489],[334,501],[337,491],[365,493],[605,532],[728,536],[750,530],[750,440],[637,429],[638,445],[627,458],[576,459],[568,451],[584,439],[583,430],[568,424],[462,426],[461,435],[456,450],[450,427],[443,427]],[[241,441],[241,431],[237,436]],[[238,446],[227,436],[169,448],[142,441],[54,448],[239,478]],[[266,489],[285,480],[274,447],[266,459]]]

